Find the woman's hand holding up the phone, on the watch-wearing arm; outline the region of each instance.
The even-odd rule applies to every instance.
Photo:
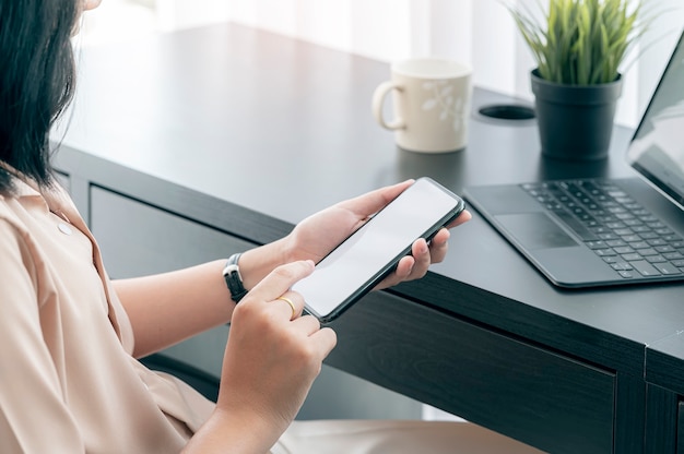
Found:
[[[350,199],[314,214],[300,222],[285,238],[293,260],[311,260],[318,263],[340,242],[361,227],[370,216],[394,200],[413,181],[381,188],[364,195]],[[444,260],[448,250],[449,228],[471,218],[463,212],[447,228],[434,236],[429,244],[424,239],[416,240],[412,254],[400,260],[397,270],[382,280],[377,288],[387,288],[403,280],[421,278],[432,263]]]

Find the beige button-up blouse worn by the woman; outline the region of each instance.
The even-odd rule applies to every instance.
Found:
[[[129,319],[69,195],[16,184],[0,195],[0,452],[180,451],[213,404],[131,357]]]

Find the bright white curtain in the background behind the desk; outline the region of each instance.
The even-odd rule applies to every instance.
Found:
[[[681,0],[647,1],[669,10],[642,40],[636,64],[625,69],[616,121],[629,127],[684,26]],[[500,0],[157,0],[157,9],[167,29],[229,20],[387,62],[450,57],[473,65],[476,85],[532,99],[534,63]]]

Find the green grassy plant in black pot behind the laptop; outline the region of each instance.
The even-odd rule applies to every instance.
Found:
[[[641,0],[549,0],[508,5],[536,68],[531,73],[542,153],[601,159],[610,148],[621,67],[651,22]]]

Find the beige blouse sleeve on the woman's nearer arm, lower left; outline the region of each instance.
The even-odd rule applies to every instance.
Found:
[[[0,218],[0,452],[83,453],[40,323],[31,239]]]

